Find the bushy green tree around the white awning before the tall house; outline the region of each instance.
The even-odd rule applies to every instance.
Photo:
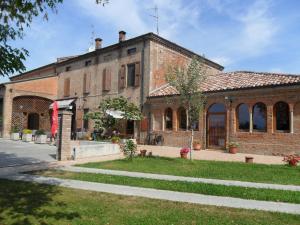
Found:
[[[107,113],[107,110],[123,112],[123,119],[126,120],[141,120],[142,113],[138,106],[129,102],[123,96],[117,98],[107,98],[101,101],[98,111],[91,112],[85,115],[85,119],[92,119],[95,122],[95,129],[105,130],[115,127],[118,119]]]

